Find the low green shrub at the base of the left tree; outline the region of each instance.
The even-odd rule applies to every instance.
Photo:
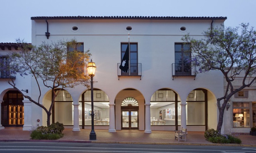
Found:
[[[49,127],[37,127],[30,134],[31,139],[36,140],[57,140],[63,137],[64,126],[62,123],[56,122]]]

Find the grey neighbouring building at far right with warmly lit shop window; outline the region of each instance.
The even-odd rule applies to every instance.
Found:
[[[242,72],[241,72],[242,73]],[[255,75],[252,77],[254,78]],[[237,75],[233,82],[234,89],[241,87],[244,74]],[[247,78],[247,81],[251,81]],[[224,82],[224,89],[227,82]],[[256,127],[256,85],[252,84],[229,99],[230,108],[224,118],[225,133],[249,133],[251,127]]]

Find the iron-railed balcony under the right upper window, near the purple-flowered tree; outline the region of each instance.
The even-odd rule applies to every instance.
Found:
[[[196,66],[192,66],[190,64],[180,64],[173,63],[171,64],[171,74],[172,80],[177,76],[192,76],[194,80],[196,79]]]

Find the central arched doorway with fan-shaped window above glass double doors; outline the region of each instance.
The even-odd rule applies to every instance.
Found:
[[[139,129],[139,104],[132,97],[127,97],[121,104],[122,129]]]

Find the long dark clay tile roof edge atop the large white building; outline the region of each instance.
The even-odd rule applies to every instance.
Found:
[[[163,19],[163,20],[212,20],[227,19],[227,17],[188,17],[188,16],[35,16],[31,20],[36,19]]]

